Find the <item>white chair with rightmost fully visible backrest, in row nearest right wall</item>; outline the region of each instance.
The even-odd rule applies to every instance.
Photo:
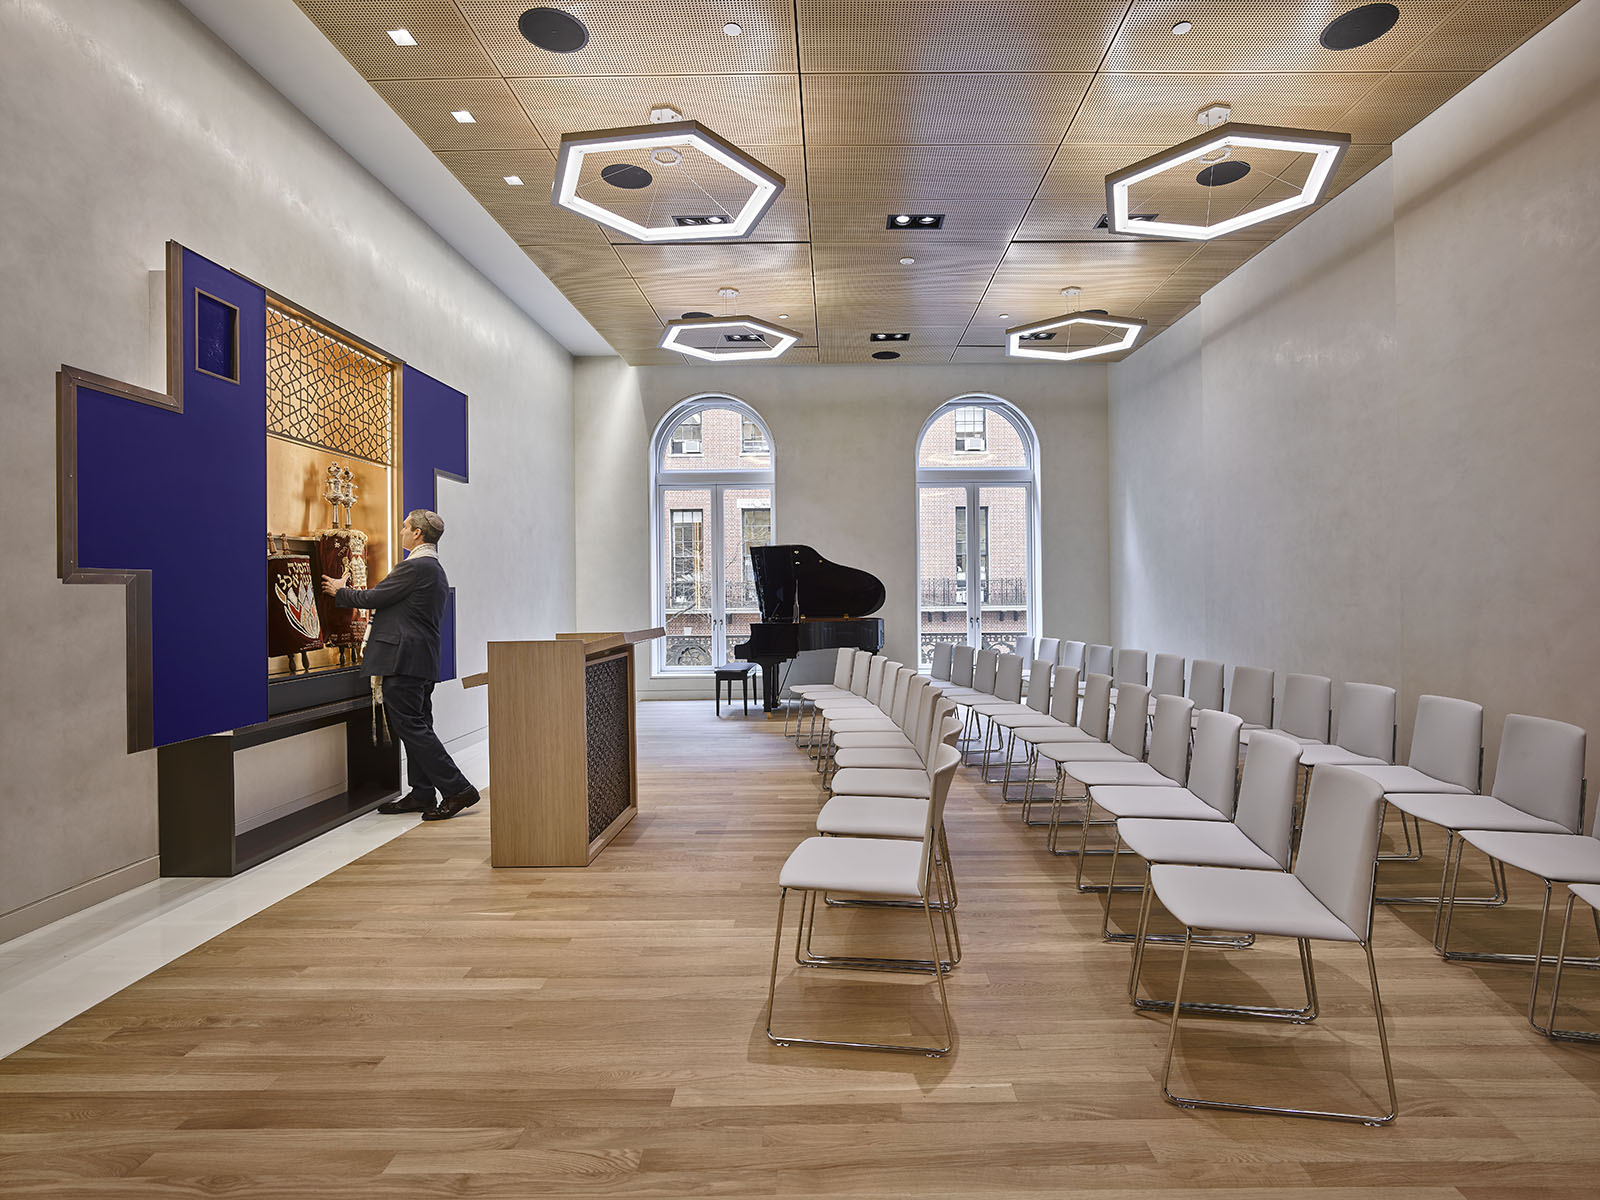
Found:
[[[1437,896],[1379,896],[1387,904],[1438,906],[1450,883],[1451,859],[1459,856],[1462,829],[1579,834],[1584,822],[1584,754],[1589,736],[1576,725],[1544,717],[1510,714],[1501,730],[1499,760],[1488,795],[1459,792],[1386,792],[1384,802],[1403,816],[1445,830],[1445,864]],[[1459,867],[1458,867],[1459,870]],[[1474,896],[1478,904],[1506,902],[1506,880],[1491,859],[1493,896]],[[1453,896],[1454,904],[1469,901]],[[1434,946],[1440,946],[1440,917],[1435,909]]]

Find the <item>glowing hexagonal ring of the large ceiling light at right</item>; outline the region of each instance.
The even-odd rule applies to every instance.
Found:
[[[1128,192],[1134,184],[1141,184],[1146,179],[1154,179],[1166,171],[1192,166],[1195,163],[1202,166],[1203,174],[1208,163],[1218,162],[1219,157],[1227,157],[1234,150],[1242,149],[1310,154],[1315,155],[1315,160],[1310,165],[1310,174],[1306,176],[1306,182],[1296,195],[1285,200],[1275,200],[1270,205],[1262,205],[1250,213],[1238,213],[1226,221],[1218,221],[1214,226],[1194,226],[1179,221],[1160,219],[1136,221],[1130,213],[1131,202],[1128,198]],[[1130,166],[1123,166],[1120,171],[1107,174],[1106,214],[1110,222],[1110,232],[1139,234],[1144,237],[1174,237],[1187,242],[1210,242],[1214,237],[1234,234],[1248,226],[1261,224],[1262,221],[1272,221],[1285,213],[1310,208],[1322,200],[1323,192],[1328,187],[1328,181],[1333,178],[1333,173],[1338,170],[1339,160],[1344,158],[1344,152],[1347,149],[1350,149],[1350,134],[1347,133],[1283,130],[1274,125],[1240,125],[1237,122],[1226,122],[1218,125],[1214,130],[1206,130],[1186,142],[1179,142],[1170,150],[1154,154],[1149,158],[1141,158]],[[1216,178],[1218,182],[1221,182],[1218,176],[1210,178]],[[1200,179],[1200,182],[1205,182],[1205,179]]]

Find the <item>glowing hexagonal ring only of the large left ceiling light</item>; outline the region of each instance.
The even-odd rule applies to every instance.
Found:
[[[659,155],[670,150],[669,155]],[[662,170],[678,166],[685,152],[694,150],[707,160],[738,176],[750,186],[750,194],[739,206],[738,213],[730,213],[726,221],[694,221],[685,219],[670,224],[643,226],[621,213],[614,213],[602,203],[578,194],[578,182],[584,171],[584,158],[592,154],[614,155],[619,152],[637,154]],[[613,163],[614,165],[614,163]],[[610,170],[608,165],[605,170]],[[640,168],[643,171],[643,168]],[[587,216],[602,226],[627,234],[640,242],[730,242],[746,237],[766,210],[784,190],[784,178],[770,166],[757,162],[738,146],[707,130],[699,122],[654,122],[651,125],[635,125],[626,130],[592,130],[587,133],[568,133],[562,138],[562,149],[555,158],[555,186],[550,192],[550,203],[566,208],[579,216]]]

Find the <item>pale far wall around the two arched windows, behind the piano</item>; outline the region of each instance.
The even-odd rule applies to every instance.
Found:
[[[915,445],[934,408],[968,392],[1010,400],[1042,446],[1043,632],[1109,632],[1106,368],[627,366],[574,368],[578,619],[650,622],[650,438],[691,395],[723,392],[765,418],[776,448],[773,520],[784,542],[872,571],[888,600],[885,653],[909,659],[917,629]],[[643,678],[643,677],[642,677]],[[709,696],[709,680],[650,680],[653,696]]]

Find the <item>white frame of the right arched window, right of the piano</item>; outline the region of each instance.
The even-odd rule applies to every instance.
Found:
[[[954,413],[957,408],[982,408],[986,410],[986,442],[987,442],[987,419],[990,414],[1008,421],[1013,429],[1016,429],[1018,437],[1022,442],[1022,450],[1027,454],[1027,466],[1022,467],[968,467],[968,466],[950,466],[950,467],[925,467],[922,466],[922,445],[933,426],[946,413]],[[1018,486],[1021,485],[1027,496],[1027,634],[1029,640],[1038,637],[1038,611],[1040,611],[1040,566],[1038,566],[1038,547],[1040,547],[1040,504],[1038,504],[1038,434],[1034,430],[1034,422],[1029,421],[1022,410],[1013,405],[1010,400],[1003,400],[998,395],[990,395],[989,392],[970,392],[966,395],[958,395],[946,400],[923,422],[922,430],[917,434],[917,443],[912,448],[917,464],[917,587],[912,594],[912,629],[917,638],[917,659],[922,661],[922,581],[923,581],[923,562],[922,562],[922,491],[923,488],[965,488],[966,499],[966,546],[968,560],[971,558],[971,547],[979,546],[979,509],[982,507],[982,488],[987,486]],[[994,547],[989,547],[990,555]],[[968,568],[968,589],[966,589],[966,645],[981,646],[982,645],[982,589],[974,586],[976,579],[971,578],[973,571]]]

